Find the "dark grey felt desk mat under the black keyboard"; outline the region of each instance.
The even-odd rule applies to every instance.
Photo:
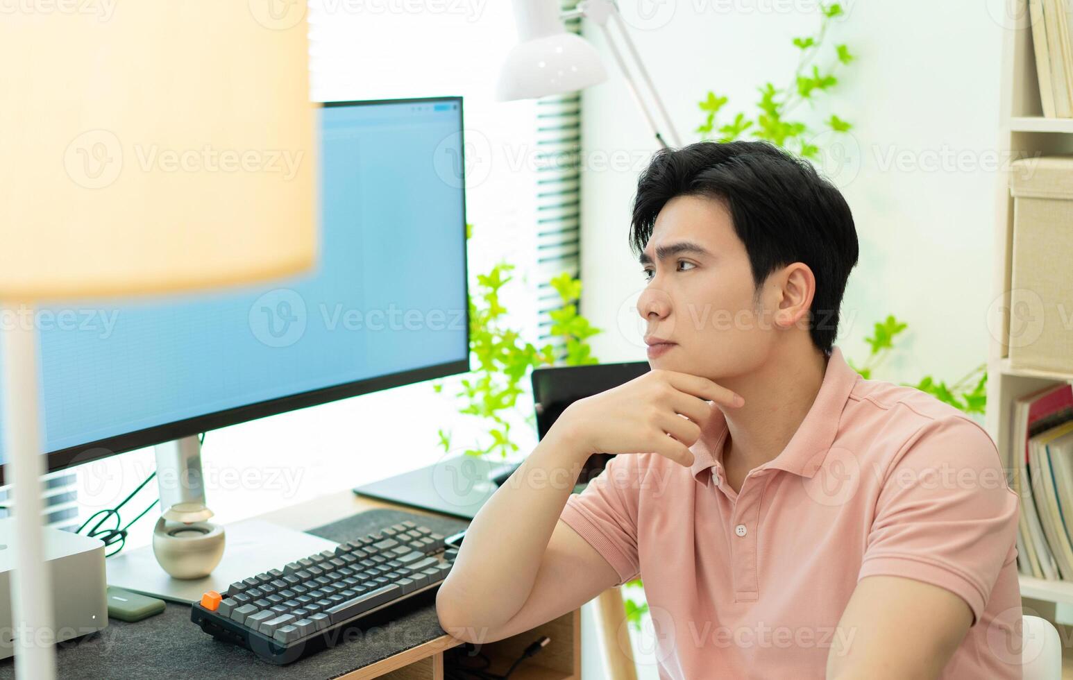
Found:
[[[309,533],[342,543],[412,520],[450,535],[469,522],[452,517],[417,515],[388,508],[358,513],[312,529]],[[282,565],[280,565],[282,566]],[[406,605],[400,605],[406,608]],[[162,614],[136,623],[108,619],[99,633],[58,646],[57,677],[63,678],[337,678],[444,635],[433,600],[410,607],[398,618],[286,666],[220,642],[190,621],[190,607],[168,602]],[[0,679],[14,678],[13,660],[0,662]]]

